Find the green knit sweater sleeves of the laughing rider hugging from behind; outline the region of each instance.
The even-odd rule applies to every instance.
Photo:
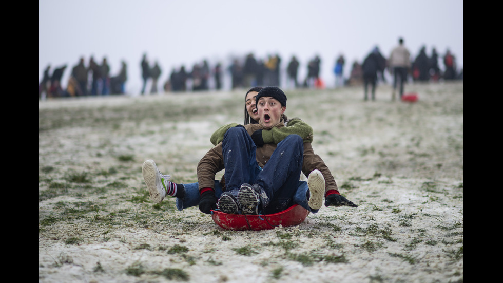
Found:
[[[221,126],[219,129],[215,131],[211,135],[211,138],[209,139],[213,145],[217,145],[219,142],[224,140],[224,134],[225,132],[231,128],[235,127],[239,124],[237,123],[230,123],[224,126]],[[299,135],[304,142],[313,142],[313,128],[309,126],[307,123],[302,121],[300,118],[292,118],[289,119],[285,122],[286,127],[273,127],[273,129],[270,130],[262,130],[262,139],[264,140],[264,143],[274,143],[278,144],[280,141],[282,141],[284,138],[286,138],[288,135]]]

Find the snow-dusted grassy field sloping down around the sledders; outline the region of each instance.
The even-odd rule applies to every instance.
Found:
[[[286,89],[286,115],[359,206],[296,227],[227,231],[198,207],[154,205],[141,165],[175,182],[245,89],[38,104],[39,282],[463,282],[463,83],[408,84],[416,103],[363,87]],[[217,177],[220,177],[217,176]]]

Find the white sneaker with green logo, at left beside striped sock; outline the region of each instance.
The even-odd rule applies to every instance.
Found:
[[[162,175],[157,168],[156,162],[150,159],[143,163],[142,172],[150,199],[155,203],[160,203],[167,193],[165,182],[169,180],[171,176]]]

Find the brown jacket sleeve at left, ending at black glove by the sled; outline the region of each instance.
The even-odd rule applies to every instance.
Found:
[[[210,187],[215,190],[215,175],[224,169],[222,143],[208,150],[197,167],[199,190]]]

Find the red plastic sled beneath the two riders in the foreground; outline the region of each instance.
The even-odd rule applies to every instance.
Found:
[[[212,210],[211,218],[226,230],[267,230],[279,225],[283,227],[298,225],[308,214],[309,211],[304,207],[294,204],[282,212],[267,215],[227,214]]]

